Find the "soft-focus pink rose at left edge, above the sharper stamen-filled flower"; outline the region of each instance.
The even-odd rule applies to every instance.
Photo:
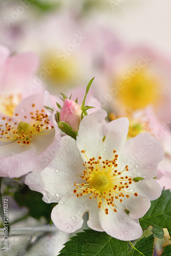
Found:
[[[41,86],[29,90],[28,82],[38,68],[33,52],[10,56],[7,47],[0,45],[0,116],[12,116],[16,105],[32,93],[40,93]]]

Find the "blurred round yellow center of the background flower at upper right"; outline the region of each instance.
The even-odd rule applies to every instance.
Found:
[[[130,80],[122,80],[123,89],[117,97],[126,107],[132,110],[145,108],[148,104],[159,103],[160,88],[157,79],[145,71],[130,76]]]

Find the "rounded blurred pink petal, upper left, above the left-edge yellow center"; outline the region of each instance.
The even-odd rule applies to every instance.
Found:
[[[21,53],[7,59],[2,84],[4,93],[22,92],[38,67],[38,57],[32,52]]]

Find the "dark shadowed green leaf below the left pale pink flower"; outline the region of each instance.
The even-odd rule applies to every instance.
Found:
[[[30,190],[25,185],[22,190],[14,194],[14,199],[19,206],[26,206],[29,209],[29,216],[38,220],[41,216],[44,216],[50,222],[51,211],[56,204],[47,204],[42,201],[42,195],[40,193]]]

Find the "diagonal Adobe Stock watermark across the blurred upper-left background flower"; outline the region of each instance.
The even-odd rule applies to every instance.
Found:
[[[48,66],[42,66],[41,72],[32,78],[30,82],[27,83],[27,87],[30,91],[30,93],[37,89],[38,86],[40,86],[42,81],[45,81],[48,76],[50,76],[54,69],[57,69],[60,66],[60,62],[66,61],[67,57],[70,56],[77,47],[79,47],[84,40],[86,40],[87,37],[80,34],[74,34],[74,39],[71,44],[69,44],[66,48],[62,48],[60,51],[57,52],[56,58],[51,61],[50,65]],[[56,60],[58,59],[58,61]]]

